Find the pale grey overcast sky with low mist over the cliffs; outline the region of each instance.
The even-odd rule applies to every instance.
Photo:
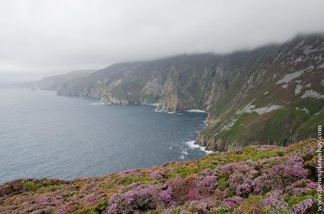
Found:
[[[0,0],[0,78],[252,49],[324,32],[323,8],[323,0]]]

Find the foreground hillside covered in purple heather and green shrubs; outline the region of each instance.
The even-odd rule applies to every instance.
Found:
[[[0,186],[0,213],[316,213],[316,146],[247,146],[101,177],[15,180]]]

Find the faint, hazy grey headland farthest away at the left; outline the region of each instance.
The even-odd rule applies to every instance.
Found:
[[[73,70],[62,75],[55,75],[51,77],[44,77],[42,80],[26,82],[23,87],[30,87],[32,89],[42,89],[59,91],[66,87],[71,87],[79,83],[83,78],[94,73],[96,70]]]

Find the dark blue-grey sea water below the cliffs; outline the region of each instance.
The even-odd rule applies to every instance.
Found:
[[[0,86],[0,183],[105,175],[206,154],[191,145],[205,126],[204,113],[93,103]]]

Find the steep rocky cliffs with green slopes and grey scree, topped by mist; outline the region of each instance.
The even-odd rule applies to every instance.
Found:
[[[211,150],[286,145],[315,136],[324,121],[323,58],[324,36],[313,34],[252,51],[118,63],[58,95],[205,110],[197,143]]]

